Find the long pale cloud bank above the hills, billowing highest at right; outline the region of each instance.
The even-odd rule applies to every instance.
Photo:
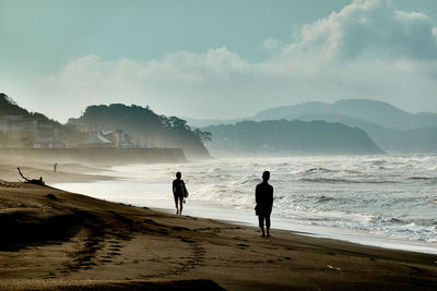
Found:
[[[355,0],[304,25],[288,45],[267,39],[263,46],[277,52],[262,62],[225,47],[149,62],[85,56],[39,77],[33,89],[59,106],[71,101],[69,116],[90,104],[132,102],[160,113],[231,118],[340,98],[437,111],[437,27],[423,13],[398,11],[383,0]]]

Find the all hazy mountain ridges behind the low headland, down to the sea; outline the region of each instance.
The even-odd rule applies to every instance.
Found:
[[[253,118],[241,120],[281,119],[308,122],[320,120],[358,128],[364,130],[379,148],[389,153],[437,153],[436,113],[413,114],[381,101],[347,99],[334,104],[305,102],[267,109]],[[192,120],[190,124],[208,126],[236,122],[238,120]]]

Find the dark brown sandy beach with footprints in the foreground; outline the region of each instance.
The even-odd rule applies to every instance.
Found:
[[[81,179],[73,169],[62,175],[63,181]],[[285,230],[260,238],[255,227],[178,217],[9,180],[0,185],[0,231],[5,234],[0,289],[434,290],[437,286],[433,254]]]

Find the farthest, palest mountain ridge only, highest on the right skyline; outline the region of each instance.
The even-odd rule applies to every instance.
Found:
[[[437,128],[437,114],[405,112],[392,105],[365,99],[339,100],[334,104],[306,102],[263,110],[253,117],[256,121],[300,119],[303,116],[342,116],[373,122],[395,130]]]

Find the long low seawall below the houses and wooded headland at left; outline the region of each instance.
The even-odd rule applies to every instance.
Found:
[[[128,165],[181,162],[181,148],[2,148],[0,158],[43,162]]]

